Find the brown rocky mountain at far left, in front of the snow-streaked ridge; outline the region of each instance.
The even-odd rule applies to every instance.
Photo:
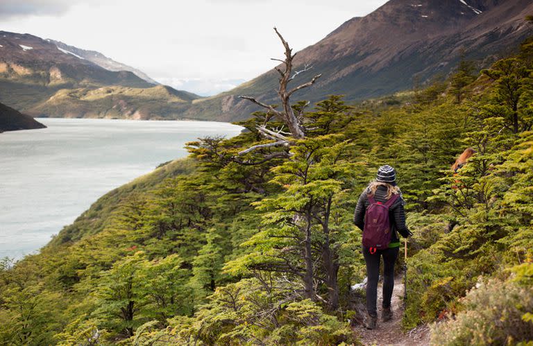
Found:
[[[40,37],[0,31],[0,102],[26,111],[59,89],[153,87],[130,71],[108,71]]]

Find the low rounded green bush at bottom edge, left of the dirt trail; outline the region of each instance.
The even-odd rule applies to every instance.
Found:
[[[286,282],[278,284],[280,289],[264,291],[259,279],[242,279],[217,288],[196,321],[177,318],[165,335],[175,336],[176,343],[198,341],[207,345],[258,341],[265,345],[330,345],[354,341],[346,322],[325,314],[311,300],[280,300],[291,289]]]

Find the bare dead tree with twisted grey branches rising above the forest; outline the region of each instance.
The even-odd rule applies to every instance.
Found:
[[[292,109],[291,103],[290,103],[290,97],[291,97],[292,94],[294,94],[298,90],[301,90],[301,89],[304,89],[306,87],[310,87],[311,85],[313,85],[314,82],[318,78],[320,78],[321,74],[317,74],[316,76],[314,76],[307,83],[303,83],[301,85],[298,85],[297,87],[289,89],[288,88],[289,82],[291,82],[291,80],[294,80],[294,78],[296,76],[298,76],[298,74],[303,73],[303,72],[308,71],[309,69],[311,69],[312,66],[310,66],[309,64],[305,64],[303,69],[301,69],[299,71],[295,71],[293,73],[293,71],[292,71],[292,68],[293,68],[292,63],[293,63],[294,57],[296,56],[296,53],[294,53],[294,54],[292,53],[292,49],[290,48],[289,44],[287,43],[287,41],[285,41],[285,39],[282,37],[282,35],[279,33],[279,31],[278,31],[278,29],[276,27],[274,27],[274,31],[276,31],[276,34],[278,35],[278,37],[280,37],[280,40],[281,40],[283,46],[285,47],[285,59],[284,60],[272,58],[272,60],[276,60],[276,61],[279,61],[279,62],[282,63],[282,67],[281,68],[280,67],[274,67],[274,69],[276,69],[276,71],[278,71],[278,73],[280,74],[280,78],[279,78],[280,87],[277,90],[277,92],[278,92],[278,96],[280,96],[280,100],[281,100],[281,104],[282,104],[283,110],[282,111],[281,110],[276,110],[276,108],[274,108],[272,105],[267,105],[265,103],[257,101],[257,99],[255,99],[255,98],[253,98],[251,96],[242,96],[241,95],[241,96],[239,96],[239,98],[244,98],[246,100],[249,100],[249,101],[255,103],[256,105],[260,105],[261,107],[266,108],[268,110],[268,112],[271,112],[272,114],[276,114],[276,116],[278,116],[280,119],[282,119],[282,121],[285,123],[285,125],[287,125],[287,128],[289,128],[290,134],[287,134],[287,135],[290,135],[294,139],[301,139],[301,138],[305,137],[305,130],[303,128],[301,116],[299,116],[300,114],[294,114],[294,110]],[[289,141],[289,139],[287,139],[287,137],[281,135],[280,132],[268,130],[266,125],[257,126],[257,130],[262,135],[264,135],[264,137],[267,137],[268,139],[276,140],[276,142],[269,144],[270,146],[280,146],[281,144],[278,144],[277,142],[284,142],[284,144],[286,144],[286,145],[290,145],[291,144],[291,142]],[[274,132],[274,133],[272,133],[272,132]],[[261,148],[264,148],[265,146],[267,146],[267,145],[262,144]],[[247,151],[246,150],[243,150],[243,151],[246,151],[246,153],[248,153],[251,150],[255,150],[254,147],[247,149]],[[243,153],[243,152],[241,152],[241,153]],[[239,153],[239,155],[241,153]]]

